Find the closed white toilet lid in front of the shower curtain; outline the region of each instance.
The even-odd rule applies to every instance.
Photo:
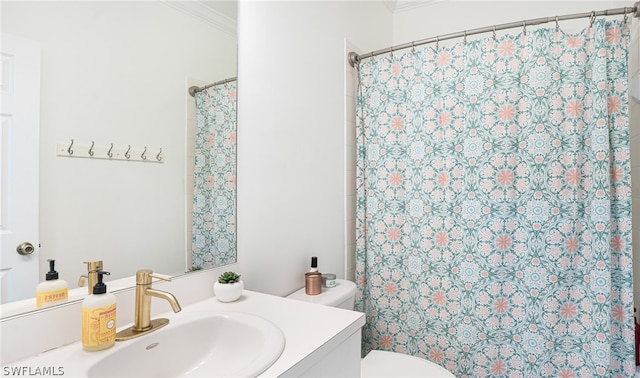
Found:
[[[361,377],[455,378],[447,369],[423,358],[372,350],[361,362]]]

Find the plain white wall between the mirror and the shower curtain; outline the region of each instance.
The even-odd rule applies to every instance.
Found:
[[[243,1],[238,9],[238,252],[251,290],[345,272],[344,38],[391,43],[382,2]]]

